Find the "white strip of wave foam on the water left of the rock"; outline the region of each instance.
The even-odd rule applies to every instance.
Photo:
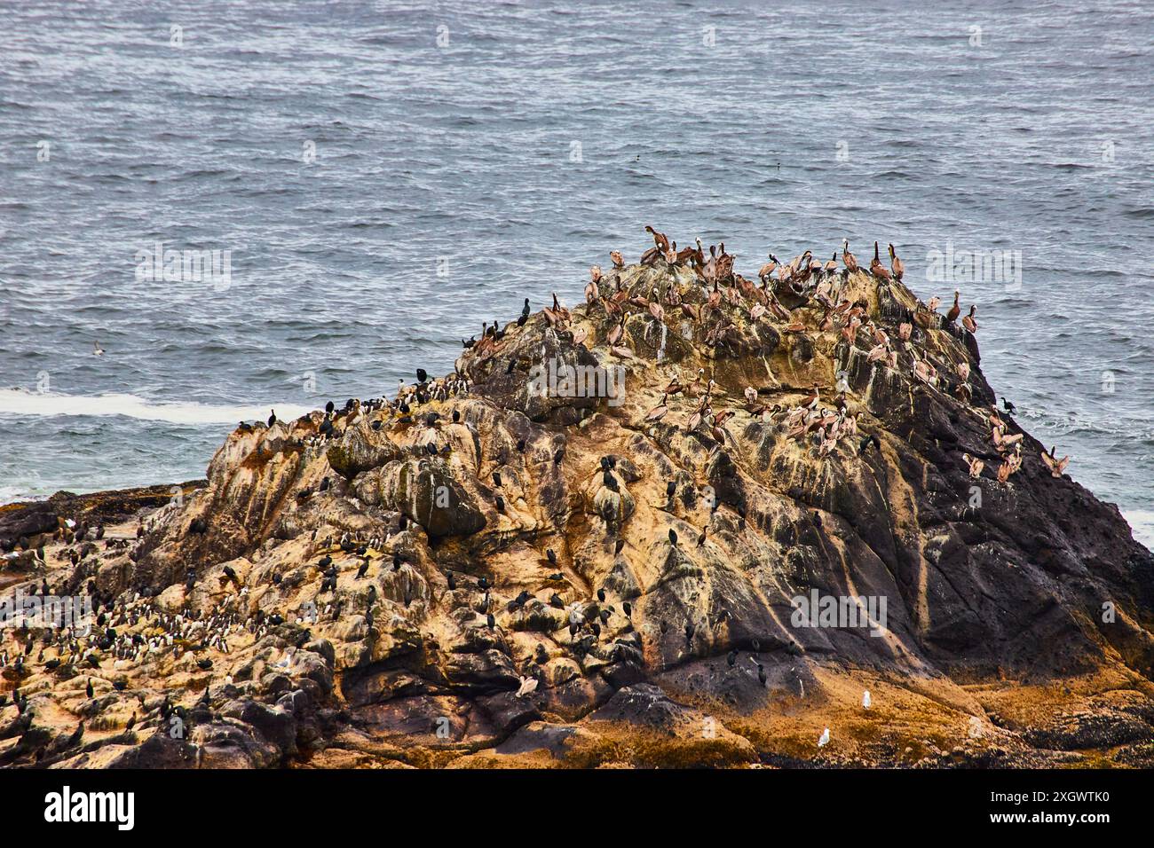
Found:
[[[35,392],[24,389],[0,389],[0,417],[38,415],[57,418],[63,415],[108,417],[121,415],[141,421],[164,421],[174,425],[235,423],[237,421],[261,421],[269,417],[269,410],[277,410],[277,418],[291,420],[315,407],[295,404],[198,404],[196,402],[153,402],[135,395],[61,395],[58,392]]]

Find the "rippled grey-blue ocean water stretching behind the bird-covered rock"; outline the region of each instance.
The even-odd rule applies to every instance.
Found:
[[[240,419],[449,372],[653,224],[747,276],[893,242],[1154,541],[1148,2],[95,0],[0,32],[0,501],[195,478]],[[218,273],[150,275],[157,242]]]

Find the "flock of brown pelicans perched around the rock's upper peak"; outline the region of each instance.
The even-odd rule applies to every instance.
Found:
[[[710,345],[718,345],[729,338],[736,331],[732,317],[720,310],[722,302],[748,309],[749,320],[756,323],[763,316],[772,316],[784,327],[785,333],[804,335],[814,330],[814,327],[804,320],[805,313],[800,312],[800,307],[788,308],[781,301],[785,292],[793,299],[801,299],[801,307],[811,307],[822,310],[817,321],[819,332],[840,331],[842,338],[850,345],[861,338],[861,333],[868,333],[869,362],[881,362],[886,368],[897,369],[899,367],[899,351],[907,352],[912,359],[911,373],[917,381],[931,385],[938,390],[950,392],[958,399],[968,404],[972,390],[969,387],[969,363],[961,361],[956,366],[956,374],[939,374],[937,368],[926,358],[920,355],[919,350],[911,344],[914,335],[914,322],[923,328],[950,328],[960,327],[964,333],[975,335],[977,332],[976,306],[971,305],[969,312],[962,315],[960,292],[954,291],[953,305],[943,316],[937,312],[942,301],[938,297],[932,297],[926,307],[911,314],[907,321],[898,325],[898,339],[891,339],[889,332],[876,323],[867,310],[867,305],[859,301],[850,301],[845,295],[846,285],[850,275],[857,271],[868,272],[879,286],[892,282],[900,282],[905,276],[905,263],[898,256],[892,243],[887,245],[890,264],[882,261],[881,245],[874,242],[874,256],[868,268],[859,264],[856,256],[849,250],[848,240],[841,242],[840,264],[838,252],[834,250],[829,260],[819,261],[814,257],[811,250],[799,254],[789,262],[781,262],[773,253],[767,255],[769,262],[758,269],[757,277],[759,285],[735,272],[735,257],[725,249],[725,242],[718,246],[711,245],[707,249],[702,245],[700,239],[696,239],[694,247],[679,248],[676,241],[670,241],[665,233],[658,232],[652,226],[646,226],[645,231],[653,238],[653,246],[645,250],[640,257],[643,265],[653,265],[662,261],[670,268],[690,268],[697,282],[704,287],[704,303],[687,302],[683,293],[676,285],[665,285],[664,291],[653,287],[649,297],[631,294],[628,288],[621,286],[620,277],[610,278],[600,265],[590,269],[590,279],[585,285],[585,300],[589,305],[600,305],[606,316],[613,320],[613,327],[607,335],[607,343],[610,353],[620,358],[630,358],[631,352],[623,347],[625,338],[625,322],[636,314],[636,310],[647,313],[654,322],[665,322],[668,310],[680,312],[695,324],[703,324],[706,318],[717,315],[717,321],[706,333],[705,342]],[[609,253],[609,258],[615,271],[624,267],[624,258],[619,250]],[[615,279],[616,287],[612,292],[604,291],[610,279]],[[788,299],[787,299],[788,300]],[[630,312],[634,308],[634,312]],[[553,308],[545,309],[549,324],[553,327],[564,327],[571,320],[569,310],[562,307],[554,295]],[[587,333],[584,330],[574,332],[574,342],[584,342]],[[734,415],[733,410],[714,412],[712,407],[714,383],[705,378],[704,369],[698,372],[697,377],[683,384],[677,377],[672,380],[662,391],[660,403],[652,407],[646,414],[646,421],[655,422],[665,418],[669,412],[668,400],[670,396],[682,395],[684,397],[698,398],[698,403],[685,421],[687,431],[697,430],[703,423],[710,435],[724,444],[726,440],[733,437],[725,429],[726,422]],[[794,405],[774,404],[772,406],[759,403],[758,392],[752,387],[744,390],[745,411],[755,418],[759,418],[765,423],[774,423],[788,437],[804,441],[811,438],[816,445],[816,455],[826,457],[833,453],[840,440],[854,438],[859,436],[859,418],[861,413],[852,413],[848,408],[845,391],[837,391],[832,398],[832,404],[823,405],[820,387],[815,385],[812,392],[801,403]],[[1012,407],[1007,405],[1007,412]],[[996,407],[990,408],[988,415],[991,440],[999,456],[1003,457],[1002,465],[997,471],[999,482],[1006,482],[1012,474],[1021,467],[1021,433],[1007,434],[1006,422],[1002,419]],[[879,446],[876,435],[865,436],[857,443],[857,452],[865,451],[870,444]],[[984,461],[975,459],[968,453],[964,455],[969,467],[971,475],[976,478],[984,467]],[[1054,457],[1054,451],[1042,453],[1047,467],[1056,475],[1061,476],[1069,463],[1069,457],[1058,460]]]

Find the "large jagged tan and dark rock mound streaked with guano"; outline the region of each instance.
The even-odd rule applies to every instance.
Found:
[[[183,740],[145,753],[113,720],[114,744],[58,756],[1037,764],[1057,760],[1035,749],[1099,740],[1147,761],[1154,560],[1028,435],[1020,470],[995,479],[971,333],[864,272],[841,291],[871,322],[856,331],[786,293],[774,317],[765,292],[713,294],[661,258],[601,292],[466,351],[467,391],[355,405],[327,438],[321,413],[233,433],[208,486],[150,516],[100,590],[265,623],[228,654],[196,652],[211,670],[193,653],[126,663],[129,691],[200,706]],[[877,332],[896,361],[869,355]],[[790,434],[815,387],[816,412],[839,417],[844,395],[839,427],[856,427],[832,448],[816,427]],[[972,479],[962,455],[987,471]],[[850,623],[815,609],[799,624],[794,599],[815,594]],[[91,708],[76,688],[36,697],[76,714]],[[1094,700],[1117,690],[1126,705]]]

